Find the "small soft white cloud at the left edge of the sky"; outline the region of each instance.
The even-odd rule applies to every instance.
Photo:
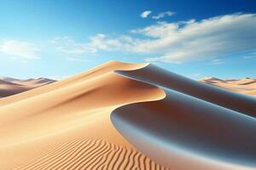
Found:
[[[0,44],[0,51],[4,54],[14,55],[22,59],[40,59],[34,44],[20,41],[5,41]]]

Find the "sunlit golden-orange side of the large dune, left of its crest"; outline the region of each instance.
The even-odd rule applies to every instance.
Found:
[[[130,152],[131,155],[135,155],[134,159],[125,156],[125,159],[130,159],[129,166],[135,164],[131,169],[138,169],[140,166],[142,166],[141,169],[149,167],[166,169],[137,151],[116,131],[110,120],[111,112],[121,105],[164,98],[165,93],[162,89],[119,76],[113,72],[113,70],[134,70],[144,65],[110,62],[63,81],[0,99],[1,168],[4,170],[28,169],[28,167],[49,169],[48,167],[52,166],[56,159],[59,159],[59,157],[52,158],[52,156],[59,154],[65,155],[67,160],[65,158],[65,160],[57,161],[58,165],[62,165],[64,161],[73,165],[72,157],[84,144],[77,146],[74,144],[73,150],[69,150],[68,142],[88,139],[96,144],[97,141],[102,141],[108,143],[107,145],[119,146],[123,150],[133,150]],[[102,146],[102,152],[107,150],[107,145],[106,147]],[[58,147],[61,147],[60,150],[69,151],[61,153]],[[94,154],[93,150],[85,146],[82,150],[88,155]],[[111,153],[116,153],[114,147],[111,147],[110,150]],[[99,152],[96,154],[100,155]],[[105,158],[105,152],[103,156],[99,156],[100,160]],[[116,160],[121,162],[121,158],[122,155]],[[48,164],[49,159],[52,161]],[[83,160],[84,156],[79,155],[80,159]],[[143,167],[140,159],[146,161],[146,164],[151,162],[150,166],[148,164]],[[80,162],[79,169],[90,166],[89,161]],[[124,162],[126,161],[128,160],[124,160]],[[116,166],[113,169],[122,169],[117,165],[123,167],[124,163],[118,162],[115,163]],[[93,169],[100,163],[102,161],[98,161],[94,167],[86,167],[86,169]],[[39,167],[33,167],[34,164],[39,164]],[[77,168],[77,166],[78,164],[75,164],[66,169]],[[108,167],[108,169],[112,169],[112,167]]]

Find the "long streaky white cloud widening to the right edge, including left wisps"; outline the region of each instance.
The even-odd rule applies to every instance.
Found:
[[[255,30],[256,14],[227,14],[199,21],[157,22],[131,30],[125,36],[98,34],[90,37],[90,42],[71,41],[73,45],[59,49],[62,52],[80,50],[81,53],[96,53],[102,50],[150,54],[157,57],[146,58],[147,61],[183,63],[219,59],[224,55],[256,49]]]

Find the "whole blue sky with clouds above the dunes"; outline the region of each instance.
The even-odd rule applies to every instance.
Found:
[[[253,0],[0,3],[0,76],[61,78],[120,60],[195,79],[256,77]]]

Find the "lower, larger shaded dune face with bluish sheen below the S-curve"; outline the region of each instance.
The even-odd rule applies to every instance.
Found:
[[[166,90],[160,101],[113,111],[112,121],[138,150],[173,168],[256,167],[256,120],[201,99]]]

